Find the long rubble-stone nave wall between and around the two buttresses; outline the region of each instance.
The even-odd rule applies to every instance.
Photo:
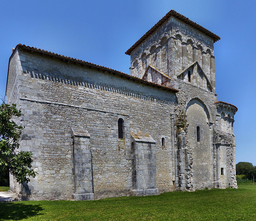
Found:
[[[21,66],[8,79],[18,75],[20,82],[22,150],[33,153],[38,172],[28,184],[30,199],[72,198],[70,128],[91,135],[95,199],[130,194],[130,132],[150,134],[156,150],[162,148],[161,136],[166,137],[166,150],[174,146],[170,128],[175,93],[36,53],[14,53],[19,53]],[[118,138],[118,118],[124,120],[124,139]],[[157,188],[173,188],[173,158],[172,153],[164,156],[156,151],[156,170],[162,174]]]

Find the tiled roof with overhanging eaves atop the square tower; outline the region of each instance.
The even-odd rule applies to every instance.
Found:
[[[174,10],[170,10],[170,12],[168,12],[161,20],[159,20],[159,22],[157,22],[150,30],[148,30],[148,32],[146,32],[146,34],[144,34],[144,36],[142,36],[138,41],[136,41],[136,43],[134,45],[132,45],[132,47],[130,47],[125,53],[126,55],[130,55],[131,52],[140,44],[142,43],[142,41],[144,41],[148,36],[150,36],[150,34],[152,34],[158,27],[160,27],[166,20],[168,20],[171,16],[174,16],[175,18],[178,18],[179,20],[181,20],[182,22],[185,22],[186,24],[192,26],[193,28],[196,28],[197,30],[199,30],[200,32],[208,35],[209,37],[212,37],[214,40],[214,43],[218,40],[220,40],[220,37],[217,36],[216,34],[210,32],[209,30],[207,30],[206,28],[196,24],[196,22],[192,22],[191,20],[189,20],[188,18],[186,18],[185,16],[183,16],[182,14],[179,14],[178,12],[174,11]]]

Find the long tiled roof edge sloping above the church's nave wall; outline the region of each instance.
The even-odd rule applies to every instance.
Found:
[[[133,80],[133,81],[137,81],[137,82],[140,82],[140,83],[145,84],[145,85],[151,85],[153,87],[158,87],[158,88],[161,88],[161,89],[166,89],[166,90],[169,90],[169,91],[172,91],[172,92],[175,92],[175,93],[178,92],[178,90],[176,90],[174,88],[171,88],[171,87],[166,87],[166,86],[158,85],[156,83],[145,81],[145,80],[142,80],[142,79],[140,79],[138,77],[134,77],[132,75],[128,75],[126,73],[122,73],[120,71],[116,71],[116,70],[108,68],[108,67],[96,65],[94,63],[90,63],[90,62],[87,62],[87,61],[82,61],[82,60],[75,59],[75,58],[72,58],[72,57],[66,57],[64,55],[59,55],[59,54],[56,54],[56,53],[52,53],[50,51],[42,50],[40,48],[29,47],[29,46],[22,45],[22,44],[18,44],[16,46],[16,48],[19,48],[20,50],[27,50],[30,53],[36,52],[36,53],[39,53],[41,55],[48,55],[48,56],[50,56],[52,58],[59,58],[62,61],[66,61],[67,63],[70,63],[70,62],[76,63],[76,64],[79,63],[79,64],[81,64],[83,66],[88,66],[90,68],[98,69],[99,71],[109,72],[109,73],[112,73],[114,75],[119,75],[121,77],[126,77],[127,79],[130,79],[130,80]],[[14,51],[16,50],[16,48],[14,49]]]

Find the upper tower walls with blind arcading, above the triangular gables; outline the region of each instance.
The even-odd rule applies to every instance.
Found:
[[[169,77],[198,61],[215,91],[213,39],[171,17],[131,53],[130,73],[140,77],[152,65]]]

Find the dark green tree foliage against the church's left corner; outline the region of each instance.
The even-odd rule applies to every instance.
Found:
[[[32,167],[32,153],[19,150],[19,141],[23,127],[18,126],[14,119],[21,112],[16,105],[8,105],[4,101],[0,105],[0,171],[8,170],[17,181],[28,183],[29,177],[35,177]]]

